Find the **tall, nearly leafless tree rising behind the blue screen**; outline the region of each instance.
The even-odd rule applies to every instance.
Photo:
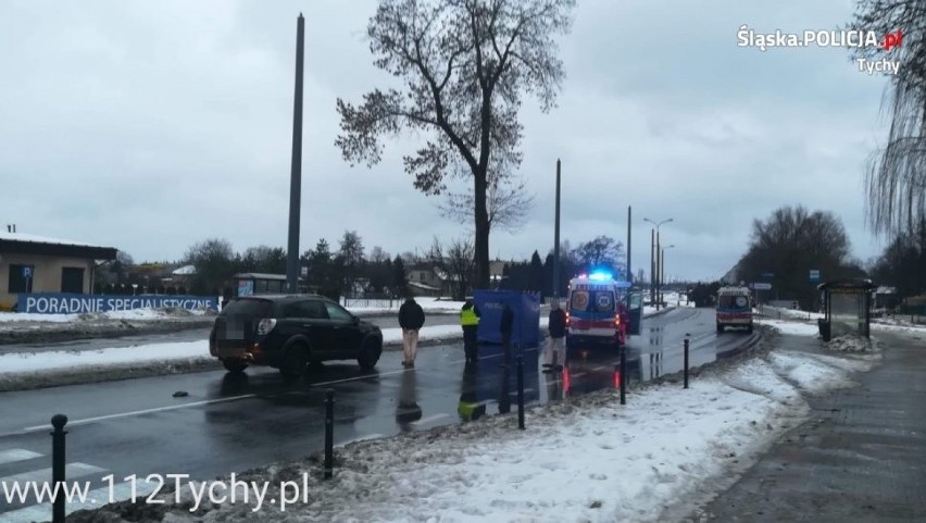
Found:
[[[404,88],[375,89],[353,105],[338,99],[345,160],[378,163],[383,136],[423,133],[404,157],[425,195],[447,176],[472,176],[476,283],[489,285],[490,169],[521,164],[524,94],[545,112],[554,107],[565,72],[554,35],[572,25],[575,0],[380,0],[367,35],[375,65]]]

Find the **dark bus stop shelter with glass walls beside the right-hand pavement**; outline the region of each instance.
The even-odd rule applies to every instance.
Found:
[[[817,325],[824,341],[846,334],[869,337],[875,289],[871,279],[838,279],[816,288],[823,294],[824,317]]]

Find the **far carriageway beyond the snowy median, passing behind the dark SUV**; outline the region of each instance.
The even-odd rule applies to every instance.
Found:
[[[380,328],[396,328],[399,326],[399,321],[396,315],[376,315],[361,316],[363,321],[378,325]],[[458,323],[455,314],[438,314],[430,313],[427,315],[427,326],[435,325],[455,325]],[[62,351],[62,350],[99,350],[111,347],[135,347],[139,345],[153,344],[174,344],[184,341],[200,341],[209,339],[209,328],[189,328],[176,333],[167,334],[150,334],[143,336],[123,336],[118,338],[91,338],[76,339],[72,341],[58,341],[52,344],[10,344],[0,345],[0,354],[14,352],[46,352],[46,351]]]

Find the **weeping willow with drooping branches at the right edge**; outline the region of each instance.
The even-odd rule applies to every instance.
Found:
[[[885,97],[887,145],[872,155],[865,175],[868,225],[879,236],[897,237],[926,216],[926,0],[860,0],[849,28],[902,35],[890,49],[853,50],[854,60],[900,64]]]

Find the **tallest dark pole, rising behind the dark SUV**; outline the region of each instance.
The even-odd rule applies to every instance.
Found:
[[[302,59],[305,18],[296,23],[296,95],[292,103],[292,166],[289,177],[289,244],[286,250],[286,284],[299,292],[299,211],[302,197]]]

